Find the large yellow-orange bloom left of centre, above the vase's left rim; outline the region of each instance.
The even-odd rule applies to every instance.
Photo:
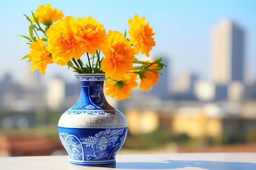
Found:
[[[76,35],[74,17],[68,16],[53,24],[48,30],[47,50],[52,53],[52,57],[57,64],[64,66],[74,57],[78,60],[85,51]]]

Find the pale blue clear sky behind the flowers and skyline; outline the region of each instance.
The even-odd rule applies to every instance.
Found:
[[[16,34],[29,35],[29,23],[23,13],[30,16],[40,4],[51,3],[65,16],[75,18],[92,16],[106,30],[124,32],[127,21],[135,14],[145,16],[154,27],[156,46],[152,57],[168,57],[172,75],[191,71],[202,78],[210,77],[210,31],[222,18],[234,20],[245,30],[245,73],[256,76],[256,1],[254,0],[8,0],[0,2],[0,79],[7,72],[20,81],[29,70],[29,64],[19,60],[29,53],[29,46],[19,46],[25,39]],[[50,65],[44,78],[65,75],[75,79],[67,68]]]

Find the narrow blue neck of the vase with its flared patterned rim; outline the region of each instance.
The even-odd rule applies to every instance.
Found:
[[[81,81],[81,93],[78,102],[71,109],[115,109],[108,104],[103,93],[104,74],[79,74],[76,77]]]

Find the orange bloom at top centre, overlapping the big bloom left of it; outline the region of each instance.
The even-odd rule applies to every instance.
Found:
[[[75,31],[75,35],[79,37],[83,50],[89,54],[96,53],[96,50],[100,49],[101,44],[105,40],[106,30],[103,24],[99,24],[91,16],[88,16],[88,18],[77,18],[75,22],[77,24],[75,28],[79,28]]]

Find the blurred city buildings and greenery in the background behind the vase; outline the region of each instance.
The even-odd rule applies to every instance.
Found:
[[[192,72],[172,77],[170,57],[156,56],[168,65],[157,85],[123,101],[108,99],[128,120],[121,152],[256,151],[256,77],[245,73],[245,32],[225,19],[211,35],[209,79]],[[65,154],[58,119],[81,85],[41,77],[34,71],[19,84],[9,74],[0,80],[0,155]]]

